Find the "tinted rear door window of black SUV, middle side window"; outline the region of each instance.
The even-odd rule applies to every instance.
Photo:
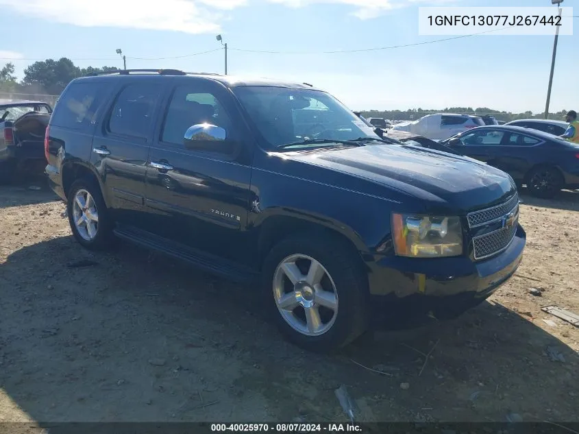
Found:
[[[153,111],[160,96],[156,83],[129,84],[116,97],[108,121],[108,131],[122,136],[147,138]]]

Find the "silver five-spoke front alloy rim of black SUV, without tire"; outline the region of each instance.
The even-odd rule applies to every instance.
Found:
[[[323,335],[336,321],[336,285],[328,270],[311,256],[292,254],[278,265],[273,298],[287,324],[302,335]]]

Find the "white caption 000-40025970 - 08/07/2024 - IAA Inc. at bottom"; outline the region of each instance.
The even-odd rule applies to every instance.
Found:
[[[272,433],[360,433],[362,426],[352,423],[256,423],[256,424],[211,424],[213,433],[219,432],[269,432]]]

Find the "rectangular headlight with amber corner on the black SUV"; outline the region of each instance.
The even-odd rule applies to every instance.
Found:
[[[393,214],[392,229],[398,256],[436,258],[463,254],[460,217]]]

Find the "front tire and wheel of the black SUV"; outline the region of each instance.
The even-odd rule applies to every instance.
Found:
[[[306,350],[330,352],[364,333],[368,324],[369,291],[356,259],[332,237],[303,235],[275,245],[262,267],[262,291],[266,311],[286,339]],[[295,285],[282,271],[282,264],[293,271]],[[321,265],[317,267],[318,278],[309,279],[310,283],[320,282],[313,291],[312,285],[305,282],[312,264]],[[336,302],[335,311],[326,307],[332,305],[332,300]],[[288,303],[286,309],[278,308],[282,301]],[[290,304],[295,304],[293,310]],[[306,306],[312,313],[309,330]]]

